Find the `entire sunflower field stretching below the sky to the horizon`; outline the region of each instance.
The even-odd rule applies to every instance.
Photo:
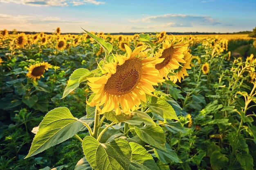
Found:
[[[253,170],[256,39],[0,34],[1,170]]]

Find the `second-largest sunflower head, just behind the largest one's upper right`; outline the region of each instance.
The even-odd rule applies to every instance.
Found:
[[[165,39],[163,42],[163,47],[159,52],[162,53],[160,58],[164,58],[164,61],[155,65],[161,77],[165,76],[167,78],[167,74],[170,70],[180,68],[180,66],[182,66],[180,63],[186,63],[183,58],[184,52],[188,49],[188,44],[182,43],[182,41],[183,39],[180,39],[180,41],[175,43],[175,37],[173,36],[172,40]]]

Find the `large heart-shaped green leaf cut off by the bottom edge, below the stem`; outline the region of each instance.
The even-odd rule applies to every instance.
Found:
[[[87,161],[95,170],[127,170],[132,157],[128,141],[121,138],[101,144],[94,137],[85,136],[82,148]]]

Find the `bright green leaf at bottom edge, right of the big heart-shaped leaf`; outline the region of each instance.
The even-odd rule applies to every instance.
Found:
[[[139,166],[136,163],[141,164],[141,169],[157,170],[157,164],[153,159],[152,155],[141,145],[130,142],[129,143],[132,150],[132,162],[134,166]],[[135,163],[136,162],[136,163]]]

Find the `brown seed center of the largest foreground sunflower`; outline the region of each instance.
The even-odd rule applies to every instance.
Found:
[[[117,65],[117,72],[108,79],[104,90],[113,95],[130,93],[141,79],[142,65],[138,58],[128,59]]]

